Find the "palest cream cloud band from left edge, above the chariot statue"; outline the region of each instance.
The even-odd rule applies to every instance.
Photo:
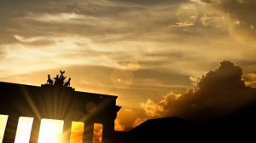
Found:
[[[118,65],[113,59],[118,59],[119,56],[125,57],[121,51],[113,53],[114,49],[101,49],[89,38],[76,35],[66,37],[15,35],[15,38],[19,43],[0,45],[0,53],[5,57],[0,60],[2,64],[0,69],[9,70],[9,74],[35,72],[70,65],[92,65],[91,62],[94,63],[95,60],[98,64],[104,62],[105,64],[102,63],[102,65],[112,67]],[[45,44],[44,42],[47,41],[49,43]],[[107,53],[108,56],[106,56]]]

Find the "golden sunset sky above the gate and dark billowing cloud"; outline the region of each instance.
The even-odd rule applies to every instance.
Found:
[[[223,60],[256,87],[255,14],[254,0],[0,0],[0,81],[65,70],[76,90],[118,95],[131,129]]]

